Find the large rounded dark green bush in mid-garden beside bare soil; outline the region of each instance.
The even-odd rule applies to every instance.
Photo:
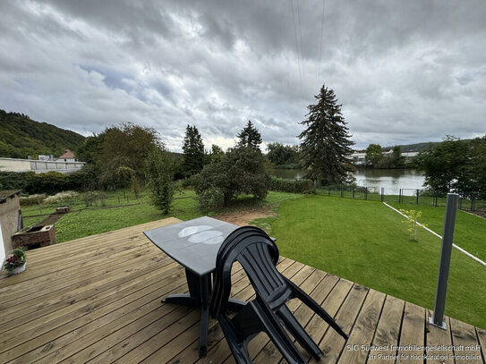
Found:
[[[265,199],[270,176],[265,169],[265,158],[253,148],[233,148],[220,161],[205,165],[195,175],[194,190],[200,206],[227,206],[242,193]]]

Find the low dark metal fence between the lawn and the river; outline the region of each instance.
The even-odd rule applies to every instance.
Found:
[[[446,196],[431,192],[431,190],[385,189],[361,186],[327,186],[318,190],[321,195],[341,197],[344,199],[365,199],[381,202],[396,202],[433,207],[446,207]],[[486,200],[480,199],[479,193],[471,193],[459,198],[459,208],[467,211],[486,209]]]

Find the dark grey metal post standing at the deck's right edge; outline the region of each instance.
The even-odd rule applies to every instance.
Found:
[[[446,293],[448,291],[448,275],[452,241],[454,237],[454,225],[456,224],[457,201],[459,195],[448,193],[446,201],[446,216],[444,217],[444,230],[442,233],[442,250],[440,250],[439,277],[437,279],[437,291],[435,294],[435,306],[433,317],[429,317],[429,323],[446,329],[444,322],[444,309],[446,307]]]

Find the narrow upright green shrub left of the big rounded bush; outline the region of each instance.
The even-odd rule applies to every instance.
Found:
[[[174,199],[174,161],[162,148],[152,148],[145,163],[152,205],[168,214]]]

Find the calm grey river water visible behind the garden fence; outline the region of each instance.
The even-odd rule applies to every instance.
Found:
[[[302,169],[276,169],[277,177],[286,179],[300,179],[305,174]],[[385,193],[399,189],[423,189],[424,178],[422,172],[414,169],[358,169],[354,172],[356,184],[368,187],[370,190],[384,188]]]

